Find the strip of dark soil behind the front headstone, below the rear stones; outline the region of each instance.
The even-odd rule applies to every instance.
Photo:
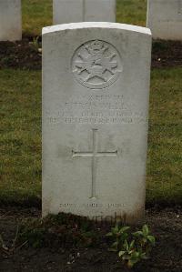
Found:
[[[0,68],[41,69],[41,38],[0,42]],[[182,42],[153,41],[152,67],[182,66]]]

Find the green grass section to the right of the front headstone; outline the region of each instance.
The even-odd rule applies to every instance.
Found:
[[[147,200],[182,203],[182,68],[151,77]]]

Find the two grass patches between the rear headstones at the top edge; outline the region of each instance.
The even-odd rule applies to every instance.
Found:
[[[42,27],[52,25],[52,0],[22,0],[24,35],[40,35]],[[116,22],[146,25],[147,0],[117,0]]]

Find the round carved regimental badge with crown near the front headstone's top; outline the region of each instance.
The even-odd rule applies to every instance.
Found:
[[[123,70],[116,48],[105,41],[86,42],[76,49],[72,72],[76,80],[91,89],[112,85]]]

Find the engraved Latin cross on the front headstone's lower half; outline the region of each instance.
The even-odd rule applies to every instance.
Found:
[[[97,158],[103,156],[117,156],[117,150],[111,152],[99,152],[97,150],[97,129],[92,129],[92,151],[82,152],[82,151],[72,151],[73,157],[91,157],[92,158],[92,191],[90,198],[96,198],[96,161]]]

